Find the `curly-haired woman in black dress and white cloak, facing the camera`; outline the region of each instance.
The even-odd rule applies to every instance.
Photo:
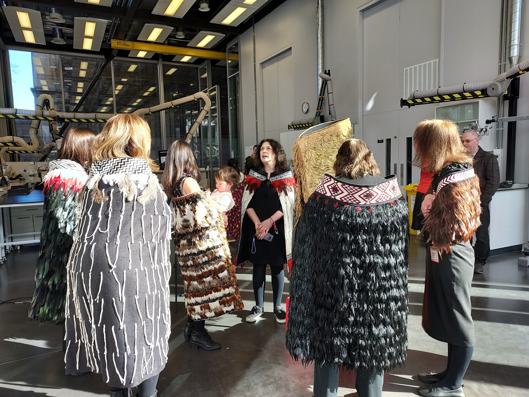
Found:
[[[255,166],[245,182],[241,204],[242,226],[237,264],[253,263],[253,293],[256,305],[246,321],[263,313],[266,267],[272,274],[273,313],[284,323],[281,308],[285,282],[284,266],[291,264],[295,181],[285,151],[274,139],[262,140],[256,150]]]

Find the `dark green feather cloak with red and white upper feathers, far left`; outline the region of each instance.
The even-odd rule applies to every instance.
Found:
[[[29,318],[41,323],[65,321],[66,264],[79,216],[77,196],[88,175],[75,161],[50,161],[44,177],[44,214],[40,253],[35,268],[35,291]]]

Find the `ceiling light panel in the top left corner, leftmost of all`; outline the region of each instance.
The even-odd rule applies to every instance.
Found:
[[[23,7],[2,7],[16,41],[46,44],[40,11]]]

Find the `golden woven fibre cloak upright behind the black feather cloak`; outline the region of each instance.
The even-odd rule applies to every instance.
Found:
[[[298,186],[296,195],[296,218],[301,215],[302,200],[308,197],[320,183],[323,174],[334,175],[336,153],[342,143],[353,138],[349,118],[314,125],[303,131],[294,142],[294,177]]]

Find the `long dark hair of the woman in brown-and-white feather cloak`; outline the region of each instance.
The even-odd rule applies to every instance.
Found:
[[[163,169],[163,191],[169,198],[175,196],[176,184],[184,174],[200,182],[200,170],[193,154],[193,148],[186,141],[178,140],[172,142],[167,149],[166,165]]]

